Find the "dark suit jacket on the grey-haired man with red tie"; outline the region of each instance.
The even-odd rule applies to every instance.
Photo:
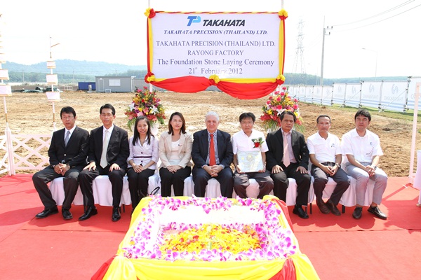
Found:
[[[229,167],[234,154],[232,153],[231,135],[217,130],[218,158],[220,165]],[[193,134],[192,159],[195,167],[207,165],[206,158],[209,154],[208,130],[201,130]]]

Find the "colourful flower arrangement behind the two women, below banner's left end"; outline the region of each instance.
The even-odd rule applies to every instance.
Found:
[[[150,92],[147,87],[143,87],[143,90],[136,87],[135,92],[132,103],[124,113],[128,117],[128,128],[132,129],[138,116],[146,116],[152,123],[159,122],[163,125],[165,111],[162,104],[159,103],[161,99],[156,96],[156,90]]]

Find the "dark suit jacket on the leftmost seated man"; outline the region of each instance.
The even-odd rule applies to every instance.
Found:
[[[65,131],[66,129],[63,128],[53,133],[51,145],[48,148],[50,164],[66,163],[70,167],[85,167],[89,150],[89,132],[76,126],[65,146]]]

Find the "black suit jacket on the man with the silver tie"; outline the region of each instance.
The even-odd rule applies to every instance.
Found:
[[[95,162],[98,166],[101,161],[102,154],[102,132],[103,126],[95,128],[91,131],[91,141],[89,141],[88,161]],[[109,165],[116,163],[120,167],[126,169],[128,158],[128,137],[126,130],[114,125],[112,134],[109,137],[107,148],[107,162]]]

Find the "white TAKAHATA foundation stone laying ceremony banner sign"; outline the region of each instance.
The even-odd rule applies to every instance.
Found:
[[[152,72],[156,78],[276,78],[280,21],[278,13],[156,13]]]

